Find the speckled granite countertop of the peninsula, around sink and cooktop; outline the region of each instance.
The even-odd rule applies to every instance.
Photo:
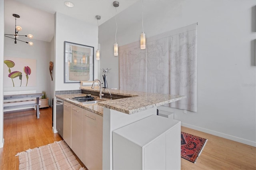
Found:
[[[82,89],[82,88],[81,88]],[[85,88],[86,89],[86,88]],[[98,89],[90,89],[91,91],[99,91]],[[68,98],[86,96],[86,94],[70,94],[70,95],[56,95],[56,97],[63,99],[64,101],[70,102],[74,105],[82,107],[88,111],[92,111],[98,115],[103,116],[103,107],[120,111],[126,114],[133,114],[153,107],[161,106],[167,103],[178,101],[186,98],[186,96],[180,95],[169,95],[169,94],[159,94],[159,93],[145,93],[145,92],[135,92],[135,91],[124,91],[124,90],[114,90],[109,89],[112,95],[124,95],[130,96],[122,99],[109,100],[102,98],[97,104],[92,105],[82,105],[82,103],[77,101],[71,101]],[[95,96],[94,96],[95,97]],[[76,102],[76,103],[74,103]]]

